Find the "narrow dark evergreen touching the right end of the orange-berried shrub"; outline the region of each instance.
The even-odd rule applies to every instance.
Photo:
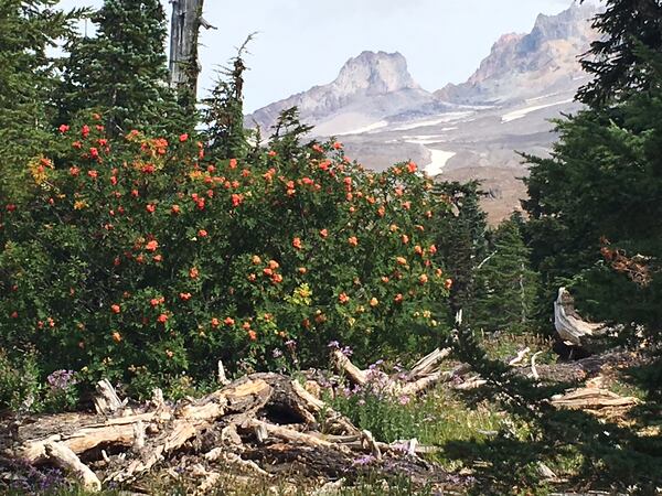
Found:
[[[449,215],[439,220],[438,257],[452,279],[450,317],[460,310],[470,319],[476,293],[474,269],[487,255],[487,216],[480,206],[479,183],[440,183],[437,194],[447,198]]]

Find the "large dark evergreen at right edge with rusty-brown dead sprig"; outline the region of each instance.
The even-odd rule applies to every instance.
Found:
[[[626,324],[632,332],[622,337],[641,335],[631,325],[640,324],[659,342],[662,55],[652,50],[654,42],[641,42],[640,28],[656,32],[661,18],[659,2],[637,3],[645,6],[607,2],[599,24],[605,46],[631,41],[633,58],[612,51],[595,60],[594,86],[602,96],[589,98],[591,107],[558,122],[560,137],[551,158],[530,158],[524,205],[547,309],[558,285],[569,283],[584,313]],[[638,21],[623,24],[628,15]]]

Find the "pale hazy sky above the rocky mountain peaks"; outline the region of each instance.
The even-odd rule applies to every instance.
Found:
[[[170,2],[162,0],[170,19]],[[98,7],[102,0],[62,0]],[[425,89],[467,79],[504,33],[531,31],[538,13],[572,0],[205,0],[201,90],[257,31],[246,63],[246,111],[330,83],[364,50],[401,52]]]

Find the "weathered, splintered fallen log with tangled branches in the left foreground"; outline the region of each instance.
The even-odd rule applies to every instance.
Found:
[[[111,397],[110,390],[105,388],[104,396]],[[213,470],[214,463],[268,476],[277,464],[306,461],[311,471],[338,477],[359,471],[356,460],[370,456],[381,461],[386,456],[388,463],[397,460],[404,472],[413,466],[417,473],[440,471],[417,459],[431,452],[431,446],[412,442],[403,450],[382,443],[297,381],[278,374],[253,374],[203,398],[179,403],[169,403],[157,392],[142,406],[115,410],[122,417],[102,411],[105,413],[22,422],[4,455],[65,467],[90,490],[109,483],[134,484],[159,467],[177,475],[169,464],[181,460],[183,453],[183,460],[197,460],[189,470],[204,479],[193,490],[196,494],[204,494],[222,474]],[[177,466],[179,471],[181,466]],[[392,465],[387,472],[393,472]]]

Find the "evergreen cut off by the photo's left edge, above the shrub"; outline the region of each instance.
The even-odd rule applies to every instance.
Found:
[[[52,134],[57,79],[47,48],[73,36],[73,22],[83,13],[65,13],[56,4],[0,0],[0,198],[20,193],[28,161]]]

